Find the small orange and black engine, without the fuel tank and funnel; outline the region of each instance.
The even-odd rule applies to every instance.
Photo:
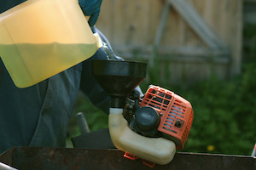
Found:
[[[149,86],[143,98],[137,92],[126,101],[125,119],[143,136],[172,140],[182,150],[193,122],[189,101],[158,86]]]

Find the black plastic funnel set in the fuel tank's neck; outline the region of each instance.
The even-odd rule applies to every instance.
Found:
[[[143,82],[147,64],[135,61],[93,60],[92,75],[111,97],[112,108],[123,108],[125,98]]]

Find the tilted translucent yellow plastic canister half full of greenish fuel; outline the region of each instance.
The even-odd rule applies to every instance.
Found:
[[[28,0],[0,14],[0,56],[18,88],[77,65],[100,46],[78,0]]]

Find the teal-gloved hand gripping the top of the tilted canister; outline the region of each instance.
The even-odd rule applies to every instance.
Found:
[[[88,23],[90,27],[94,26],[100,14],[102,0],[79,0],[85,16],[90,16]]]

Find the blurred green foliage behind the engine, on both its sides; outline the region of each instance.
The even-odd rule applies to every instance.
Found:
[[[150,81],[141,84],[144,93],[149,84],[160,85],[193,106],[194,122],[183,151],[251,155],[256,142],[256,29],[252,30],[245,33],[251,42],[244,48],[247,56],[237,77],[222,81],[212,75],[193,85],[173,86],[160,82],[160,73],[148,69]],[[108,116],[81,95],[74,113],[79,111],[85,113],[91,130],[108,127]],[[70,122],[69,138],[79,135],[74,120],[75,116]]]

